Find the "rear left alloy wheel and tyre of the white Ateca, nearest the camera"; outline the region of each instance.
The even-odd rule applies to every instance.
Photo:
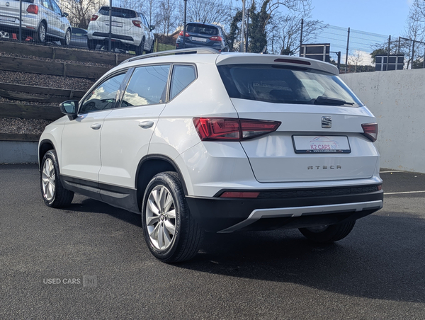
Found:
[[[147,185],[142,228],[149,250],[164,263],[187,261],[198,253],[203,230],[191,216],[177,173],[158,173]]]

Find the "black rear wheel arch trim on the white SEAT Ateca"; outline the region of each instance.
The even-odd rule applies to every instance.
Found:
[[[186,188],[186,183],[183,180],[183,175],[179,169],[179,166],[170,159],[168,156],[162,154],[149,154],[144,156],[138,166],[135,176],[135,188],[137,190],[137,205],[139,210],[141,210],[142,198],[145,194],[145,189],[152,180],[152,178],[158,173],[165,171],[174,171],[179,175],[181,185],[183,186],[183,191],[185,195],[188,195],[188,190]]]

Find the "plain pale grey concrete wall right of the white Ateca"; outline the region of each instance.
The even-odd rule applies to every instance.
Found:
[[[341,78],[378,120],[380,166],[425,173],[425,69]]]

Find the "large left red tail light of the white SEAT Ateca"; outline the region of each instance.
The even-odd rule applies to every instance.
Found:
[[[280,121],[238,118],[193,118],[201,141],[242,141],[276,131]]]

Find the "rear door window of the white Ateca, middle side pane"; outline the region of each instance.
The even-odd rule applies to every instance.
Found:
[[[139,67],[133,72],[121,107],[165,103],[169,64]]]

